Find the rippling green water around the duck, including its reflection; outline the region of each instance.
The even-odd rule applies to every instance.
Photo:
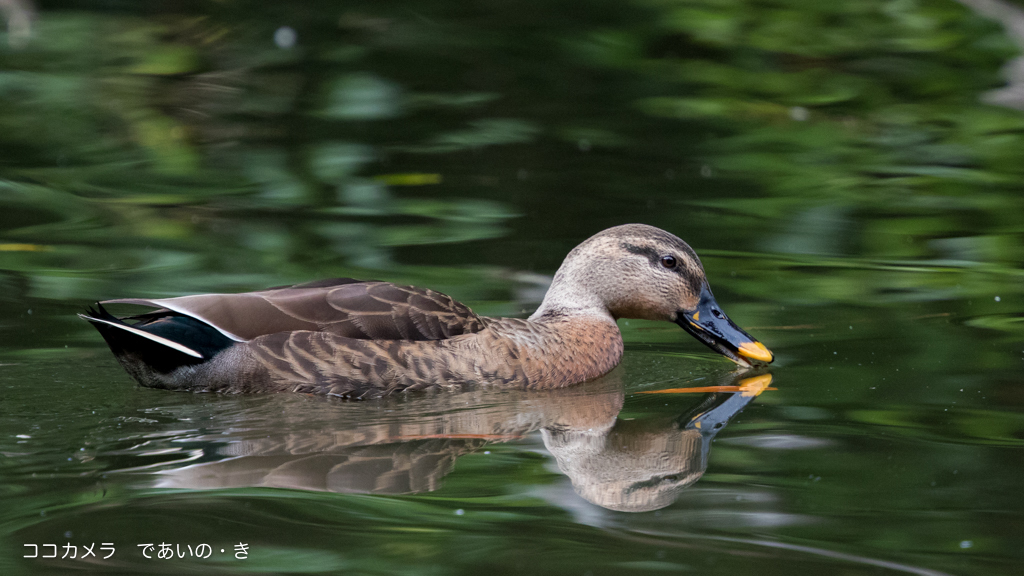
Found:
[[[1020,4],[0,4],[4,574],[1020,572]],[[558,393],[172,394],[75,316],[339,276],[524,316],[630,221],[774,389],[642,394],[742,376],[621,321]]]

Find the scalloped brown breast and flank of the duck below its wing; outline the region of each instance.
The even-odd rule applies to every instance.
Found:
[[[242,347],[278,392],[373,398],[487,382],[559,387],[596,378],[623,354],[613,322],[483,319],[484,330],[444,340],[365,340],[328,332],[261,336]]]

